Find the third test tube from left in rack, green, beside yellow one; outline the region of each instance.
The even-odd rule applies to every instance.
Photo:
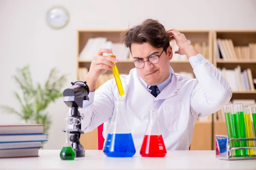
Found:
[[[244,123],[244,105],[241,103],[236,104],[236,112],[239,117],[239,138],[246,138],[245,123]],[[241,141],[241,146],[246,147],[246,141]],[[247,149],[242,149],[242,156],[248,156]]]

